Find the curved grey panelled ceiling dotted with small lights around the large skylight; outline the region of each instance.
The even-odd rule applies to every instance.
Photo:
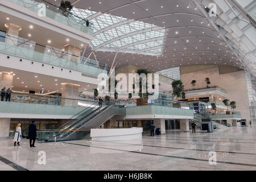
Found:
[[[60,0],[57,0],[57,2],[51,0],[53,3],[59,3],[59,1]],[[253,64],[255,61],[247,61],[247,64],[245,59],[243,59],[243,57],[241,58],[241,56],[235,52],[236,49],[233,49],[229,44],[227,44],[228,41],[221,34],[221,31],[225,29],[221,28],[218,30],[218,27],[216,28],[216,24],[211,22],[209,18],[205,16],[205,12],[203,13],[201,8],[205,3],[210,3],[212,0],[69,1],[71,1],[76,8],[101,12],[95,13],[94,16],[101,15],[102,13],[111,14],[118,16],[118,19],[121,20],[124,20],[122,18],[125,18],[130,21],[143,21],[144,23],[149,23],[151,25],[154,24],[154,26],[164,27],[166,34],[164,36],[164,46],[161,55],[150,56],[142,55],[142,52],[120,52],[116,55],[115,59],[117,67],[130,63],[156,72],[183,65],[218,64],[230,65],[241,69],[249,69],[249,63]],[[197,7],[196,4],[200,7]],[[93,20],[93,15],[91,16]],[[102,25],[103,27],[98,30],[98,33],[101,34],[101,30],[112,30],[111,27],[113,24],[111,21],[109,23],[109,25]],[[115,22],[115,24],[118,23]],[[230,34],[232,34],[232,31],[230,31]],[[101,40],[103,39],[104,38],[101,38]],[[109,41],[109,44],[112,43],[111,40],[105,40],[107,40],[107,42]],[[123,40],[120,40],[119,44],[115,44],[114,46],[120,47],[122,43],[124,46],[127,44],[124,43]],[[99,46],[100,44],[104,43],[99,42],[95,45]],[[109,66],[112,65],[116,52],[109,51],[108,49],[99,51],[100,48],[98,51],[94,51],[97,60],[108,64]],[[91,48],[86,48],[85,56],[91,55],[91,52]]]

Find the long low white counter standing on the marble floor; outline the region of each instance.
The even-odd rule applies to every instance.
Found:
[[[120,141],[142,139],[142,127],[130,129],[91,129],[90,137],[93,141]]]

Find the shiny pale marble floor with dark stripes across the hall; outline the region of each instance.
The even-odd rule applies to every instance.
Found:
[[[155,137],[143,135],[142,140],[36,143],[36,148],[28,147],[28,139],[22,139],[19,147],[2,139],[0,170],[256,170],[253,129],[167,131]],[[216,154],[216,164],[209,164],[209,152]]]

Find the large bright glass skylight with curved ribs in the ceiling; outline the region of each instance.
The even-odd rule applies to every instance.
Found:
[[[113,51],[160,55],[163,49],[163,27],[96,11],[73,8],[73,14],[93,23],[92,47],[95,51]],[[77,20],[80,20],[77,18]]]

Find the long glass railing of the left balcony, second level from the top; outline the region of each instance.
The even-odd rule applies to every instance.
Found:
[[[11,39],[15,45],[5,43],[5,39]],[[35,51],[35,47],[40,49],[42,52]],[[2,31],[0,31],[0,52],[6,53],[7,55],[38,61],[40,63],[46,63],[61,68],[88,73],[88,77],[90,77],[90,75],[97,77],[98,74],[107,72],[107,65],[101,64],[96,60],[72,55],[71,53],[61,51],[60,49],[53,47],[36,44],[36,42],[28,39],[20,37],[16,38],[14,36],[7,35]]]

